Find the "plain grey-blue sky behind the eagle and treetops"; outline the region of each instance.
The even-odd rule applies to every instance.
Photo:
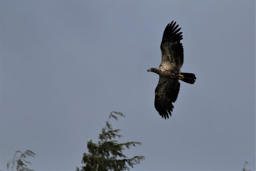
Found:
[[[111,111],[131,170],[255,170],[255,1],[1,0],[0,169],[16,150],[34,170],[81,168]],[[172,117],[154,107],[160,44],[182,28]]]

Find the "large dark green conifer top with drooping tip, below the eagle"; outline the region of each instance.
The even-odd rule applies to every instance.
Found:
[[[134,156],[132,158],[127,158],[122,151],[125,148],[129,149],[131,146],[142,145],[141,142],[126,142],[118,143],[115,138],[121,138],[123,136],[119,135],[120,129],[113,129],[109,123],[110,118],[118,120],[117,116],[123,116],[120,112],[111,112],[106,121],[106,126],[102,128],[102,132],[99,135],[98,143],[93,143],[92,140],[87,142],[87,148],[89,153],[84,153],[82,158],[82,163],[86,164],[82,166],[81,171],[121,171],[130,170],[135,164],[140,164],[140,161],[145,160],[144,156]],[[80,171],[76,168],[76,171]]]

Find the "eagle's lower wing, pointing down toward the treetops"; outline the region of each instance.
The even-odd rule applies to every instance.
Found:
[[[159,81],[155,89],[155,108],[159,115],[166,119],[168,113],[172,116],[173,102],[179,94],[180,83],[177,78],[164,77],[159,75]],[[168,112],[168,113],[167,113]]]

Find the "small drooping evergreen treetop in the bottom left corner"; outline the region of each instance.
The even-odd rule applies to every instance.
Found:
[[[18,153],[21,153],[19,157],[16,156]],[[36,155],[35,153],[33,153],[32,151],[29,151],[29,150],[25,151],[25,153],[16,151],[13,159],[8,161],[7,169],[9,170],[9,166],[10,166],[10,164],[12,164],[12,170],[14,169],[14,166],[16,165],[17,171],[34,171],[34,170],[27,168],[26,164],[31,164],[31,163],[26,161],[25,158],[29,157],[29,156],[35,157],[35,155]]]

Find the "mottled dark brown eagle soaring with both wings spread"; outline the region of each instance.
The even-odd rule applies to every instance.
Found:
[[[189,84],[194,84],[195,74],[180,72],[183,65],[184,53],[181,28],[175,26],[176,22],[169,23],[163,34],[161,43],[162,62],[158,68],[150,68],[147,71],[155,72],[159,75],[159,81],[155,89],[155,108],[162,118],[172,116],[173,104],[178,97],[180,83],[182,80]],[[169,113],[169,115],[168,115]]]

